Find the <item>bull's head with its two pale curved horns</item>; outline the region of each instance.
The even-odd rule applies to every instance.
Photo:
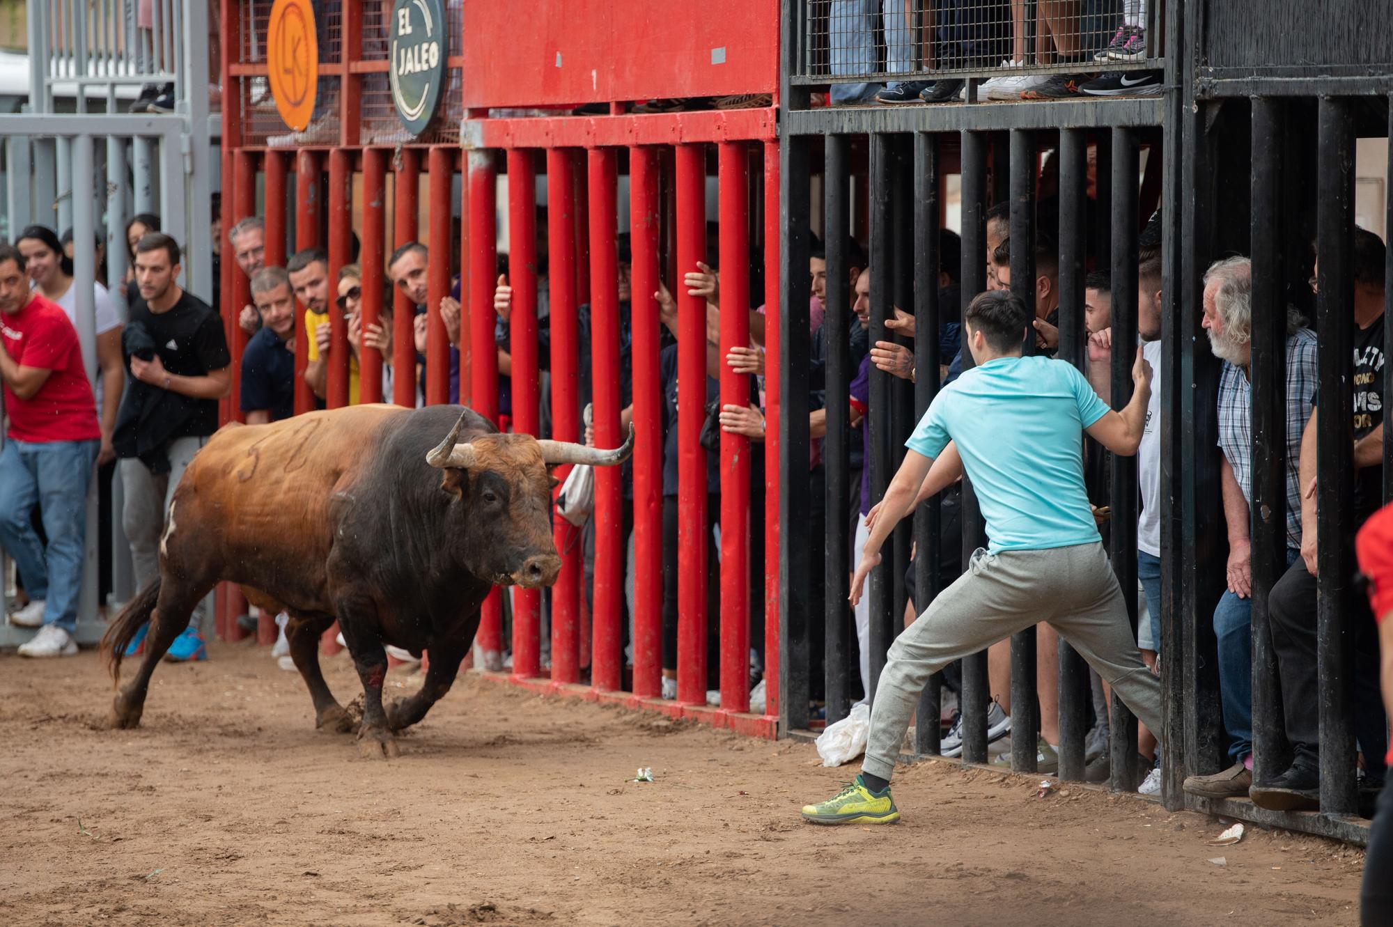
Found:
[[[481,576],[496,586],[550,586],[561,569],[552,540],[550,468],[561,464],[614,466],[634,450],[634,429],[623,447],[600,451],[571,441],[539,441],[528,434],[483,434],[460,441],[469,412],[429,454],[430,466],[446,470],[443,487],[467,505],[485,532],[475,547]]]

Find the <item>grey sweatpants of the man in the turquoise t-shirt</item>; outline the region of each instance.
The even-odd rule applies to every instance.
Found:
[[[1117,578],[1100,543],[972,554],[965,573],[894,639],[871,706],[865,763],[889,779],[929,676],[954,660],[1049,622],[1151,731],[1160,679],[1141,661]]]

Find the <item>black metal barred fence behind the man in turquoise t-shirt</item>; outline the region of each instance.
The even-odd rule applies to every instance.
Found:
[[[825,363],[812,356],[808,335],[809,232],[825,242],[827,331],[850,330],[854,303],[848,238],[869,252],[869,342],[892,341],[912,349],[917,383],[872,366],[866,402],[872,501],[883,493],[903,454],[903,440],[928,408],[940,383],[937,334],[957,322],[967,302],[990,280],[988,212],[1009,203],[1009,273],[1011,288],[1035,305],[1034,262],[1046,255],[1057,263],[1057,356],[1087,366],[1084,322],[1085,280],[1107,271],[1112,288],[1114,345],[1138,335],[1138,259],[1160,251],[1160,675],[1165,724],[1155,732],[1160,750],[1160,796],[1169,809],[1191,807],[1245,820],[1364,842],[1369,786],[1382,775],[1386,721],[1376,706],[1376,675],[1369,678],[1368,639],[1361,622],[1372,619],[1355,589],[1354,532],[1367,505],[1355,511],[1351,491],[1355,434],[1382,420],[1382,397],[1393,395],[1393,370],[1382,355],[1393,351],[1393,324],[1362,359],[1361,383],[1353,384],[1351,355],[1357,328],[1354,225],[1354,146],[1357,138],[1389,138],[1389,78],[1375,72],[1365,81],[1340,74],[1322,82],[1305,72],[1233,75],[1199,65],[1202,4],[1166,10],[1166,33],[1174,49],[1195,50],[1197,60],[1166,60],[1166,95],[1158,100],[1067,100],[1048,106],[961,106],[924,109],[811,109],[811,74],[822,61],[816,49],[819,22],[812,15],[827,4],[786,4],[781,195],[783,227],[783,415],[780,440],[788,461],[808,448],[808,405],[825,390],[826,437],[822,466],[812,473],[794,468],[781,479],[784,537],[808,536],[812,519],[825,518],[825,539],[786,544],[781,550],[786,596],[781,600],[784,729],[816,724],[812,708],[826,707],[826,721],[844,717],[861,690],[854,619],[846,605],[847,579],[859,553],[853,547],[854,429],[846,405],[855,376],[846,338],[826,337]],[[1280,18],[1280,17],[1279,17]],[[827,71],[820,71],[826,74]],[[823,77],[823,81],[827,78]],[[1261,90],[1261,93],[1259,93]],[[1254,96],[1256,93],[1256,96]],[[1365,95],[1365,96],[1358,96]],[[1390,142],[1393,148],[1393,142]],[[956,202],[947,202],[954,198]],[[951,207],[951,209],[950,209]],[[1158,214],[1153,216],[1153,212]],[[958,288],[942,291],[940,228],[956,213],[961,259]],[[1387,227],[1393,228],[1393,212]],[[1393,252],[1389,252],[1393,253]],[[1220,674],[1215,637],[1215,607],[1226,587],[1229,541],[1222,505],[1216,394],[1222,373],[1202,326],[1204,274],[1231,255],[1251,258],[1251,689],[1254,781],[1270,785],[1287,770],[1294,750],[1319,756],[1319,810],[1275,811],[1247,798],[1205,799],[1187,793],[1188,775],[1227,767],[1227,738],[1220,710]],[[1367,259],[1367,255],[1364,255]],[[1316,273],[1318,271],[1318,273]],[[1393,260],[1387,262],[1383,312],[1393,312]],[[1358,306],[1369,305],[1373,285],[1361,277]],[[1314,285],[1312,285],[1314,284]],[[951,302],[944,302],[950,298]],[[1053,298],[1053,296],[1052,296]],[[1272,593],[1289,572],[1287,539],[1287,308],[1305,310],[1318,333],[1318,395],[1325,409],[1309,436],[1316,445],[1318,579],[1308,603],[1283,621],[1304,635],[1311,660],[1293,671],[1291,629],[1283,647],[1275,644]],[[886,328],[894,308],[911,310],[918,338],[912,342]],[[1364,335],[1368,342],[1369,337]],[[965,354],[965,352],[964,352]],[[1131,388],[1133,355],[1113,351],[1110,401],[1120,408]],[[971,359],[967,358],[967,363]],[[809,373],[811,370],[811,373]],[[1373,370],[1371,376],[1368,372]],[[822,377],[823,380],[819,380]],[[1376,383],[1371,380],[1376,379]],[[1382,387],[1382,388],[1379,388]],[[1354,390],[1361,398],[1355,409]],[[840,401],[836,401],[840,399]],[[1375,408],[1378,406],[1378,408]],[[1355,411],[1364,416],[1355,419]],[[1357,431],[1358,429],[1358,431]],[[1375,436],[1371,438],[1378,441]],[[1367,452],[1367,451],[1364,451]],[[1393,459],[1385,440],[1383,461]],[[1109,546],[1135,628],[1138,490],[1134,458],[1091,457],[1110,504]],[[1373,461],[1376,465],[1378,461]],[[1099,469],[1100,468],[1100,469]],[[1369,477],[1365,477],[1369,479]],[[1390,497],[1393,468],[1385,465],[1382,496]],[[1304,491],[1304,487],[1302,487]],[[1365,500],[1367,501],[1367,500]],[[820,516],[809,514],[819,512]],[[947,548],[943,525],[961,519],[961,551]],[[897,529],[883,548],[885,561],[872,573],[869,688],[873,690],[910,600],[922,611],[932,596],[957,576],[975,547],[982,525],[971,487],[960,498],[935,498],[917,512],[912,526]],[[911,560],[911,544],[917,554]],[[816,557],[816,560],[814,560]],[[1302,558],[1297,557],[1298,566]],[[1300,576],[1297,576],[1300,579]],[[1291,580],[1289,579],[1289,583]],[[1287,587],[1279,593],[1286,594]],[[1011,766],[1035,771],[1036,714],[1035,633],[1011,640],[1010,700],[1013,706]],[[1376,654],[1376,643],[1373,644]],[[1311,663],[1314,663],[1314,670]],[[1376,661],[1375,661],[1376,663]],[[1376,674],[1376,665],[1373,672]],[[956,683],[963,711],[963,759],[983,763],[988,750],[988,658],[963,661]],[[1052,672],[1053,675],[1053,672]],[[1060,642],[1059,775],[1084,778],[1084,735],[1098,720],[1088,697],[1089,674],[1082,660]],[[1297,747],[1293,718],[1283,699],[1309,689],[1318,702],[1318,743]],[[921,702],[912,753],[940,749],[939,681]],[[1289,703],[1290,704],[1290,703]],[[1113,789],[1137,786],[1137,724],[1120,702],[1110,706],[1110,779]]]

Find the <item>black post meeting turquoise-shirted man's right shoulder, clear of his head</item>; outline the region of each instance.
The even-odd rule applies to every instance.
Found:
[[[1084,341],[1084,212],[1088,199],[1088,152],[1082,129],[1059,132],[1059,356],[1088,373]],[[1014,280],[1014,277],[1013,277]],[[1088,664],[1059,642],[1059,778],[1084,778],[1088,735]]]

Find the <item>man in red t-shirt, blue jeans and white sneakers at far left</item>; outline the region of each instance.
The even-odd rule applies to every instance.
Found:
[[[78,651],[86,496],[102,430],[78,333],[67,313],[29,291],[24,255],[0,244],[0,380],[8,419],[0,451],[0,544],[29,604],[10,615],[39,628],[22,657]],[[39,505],[45,547],[31,515]]]

